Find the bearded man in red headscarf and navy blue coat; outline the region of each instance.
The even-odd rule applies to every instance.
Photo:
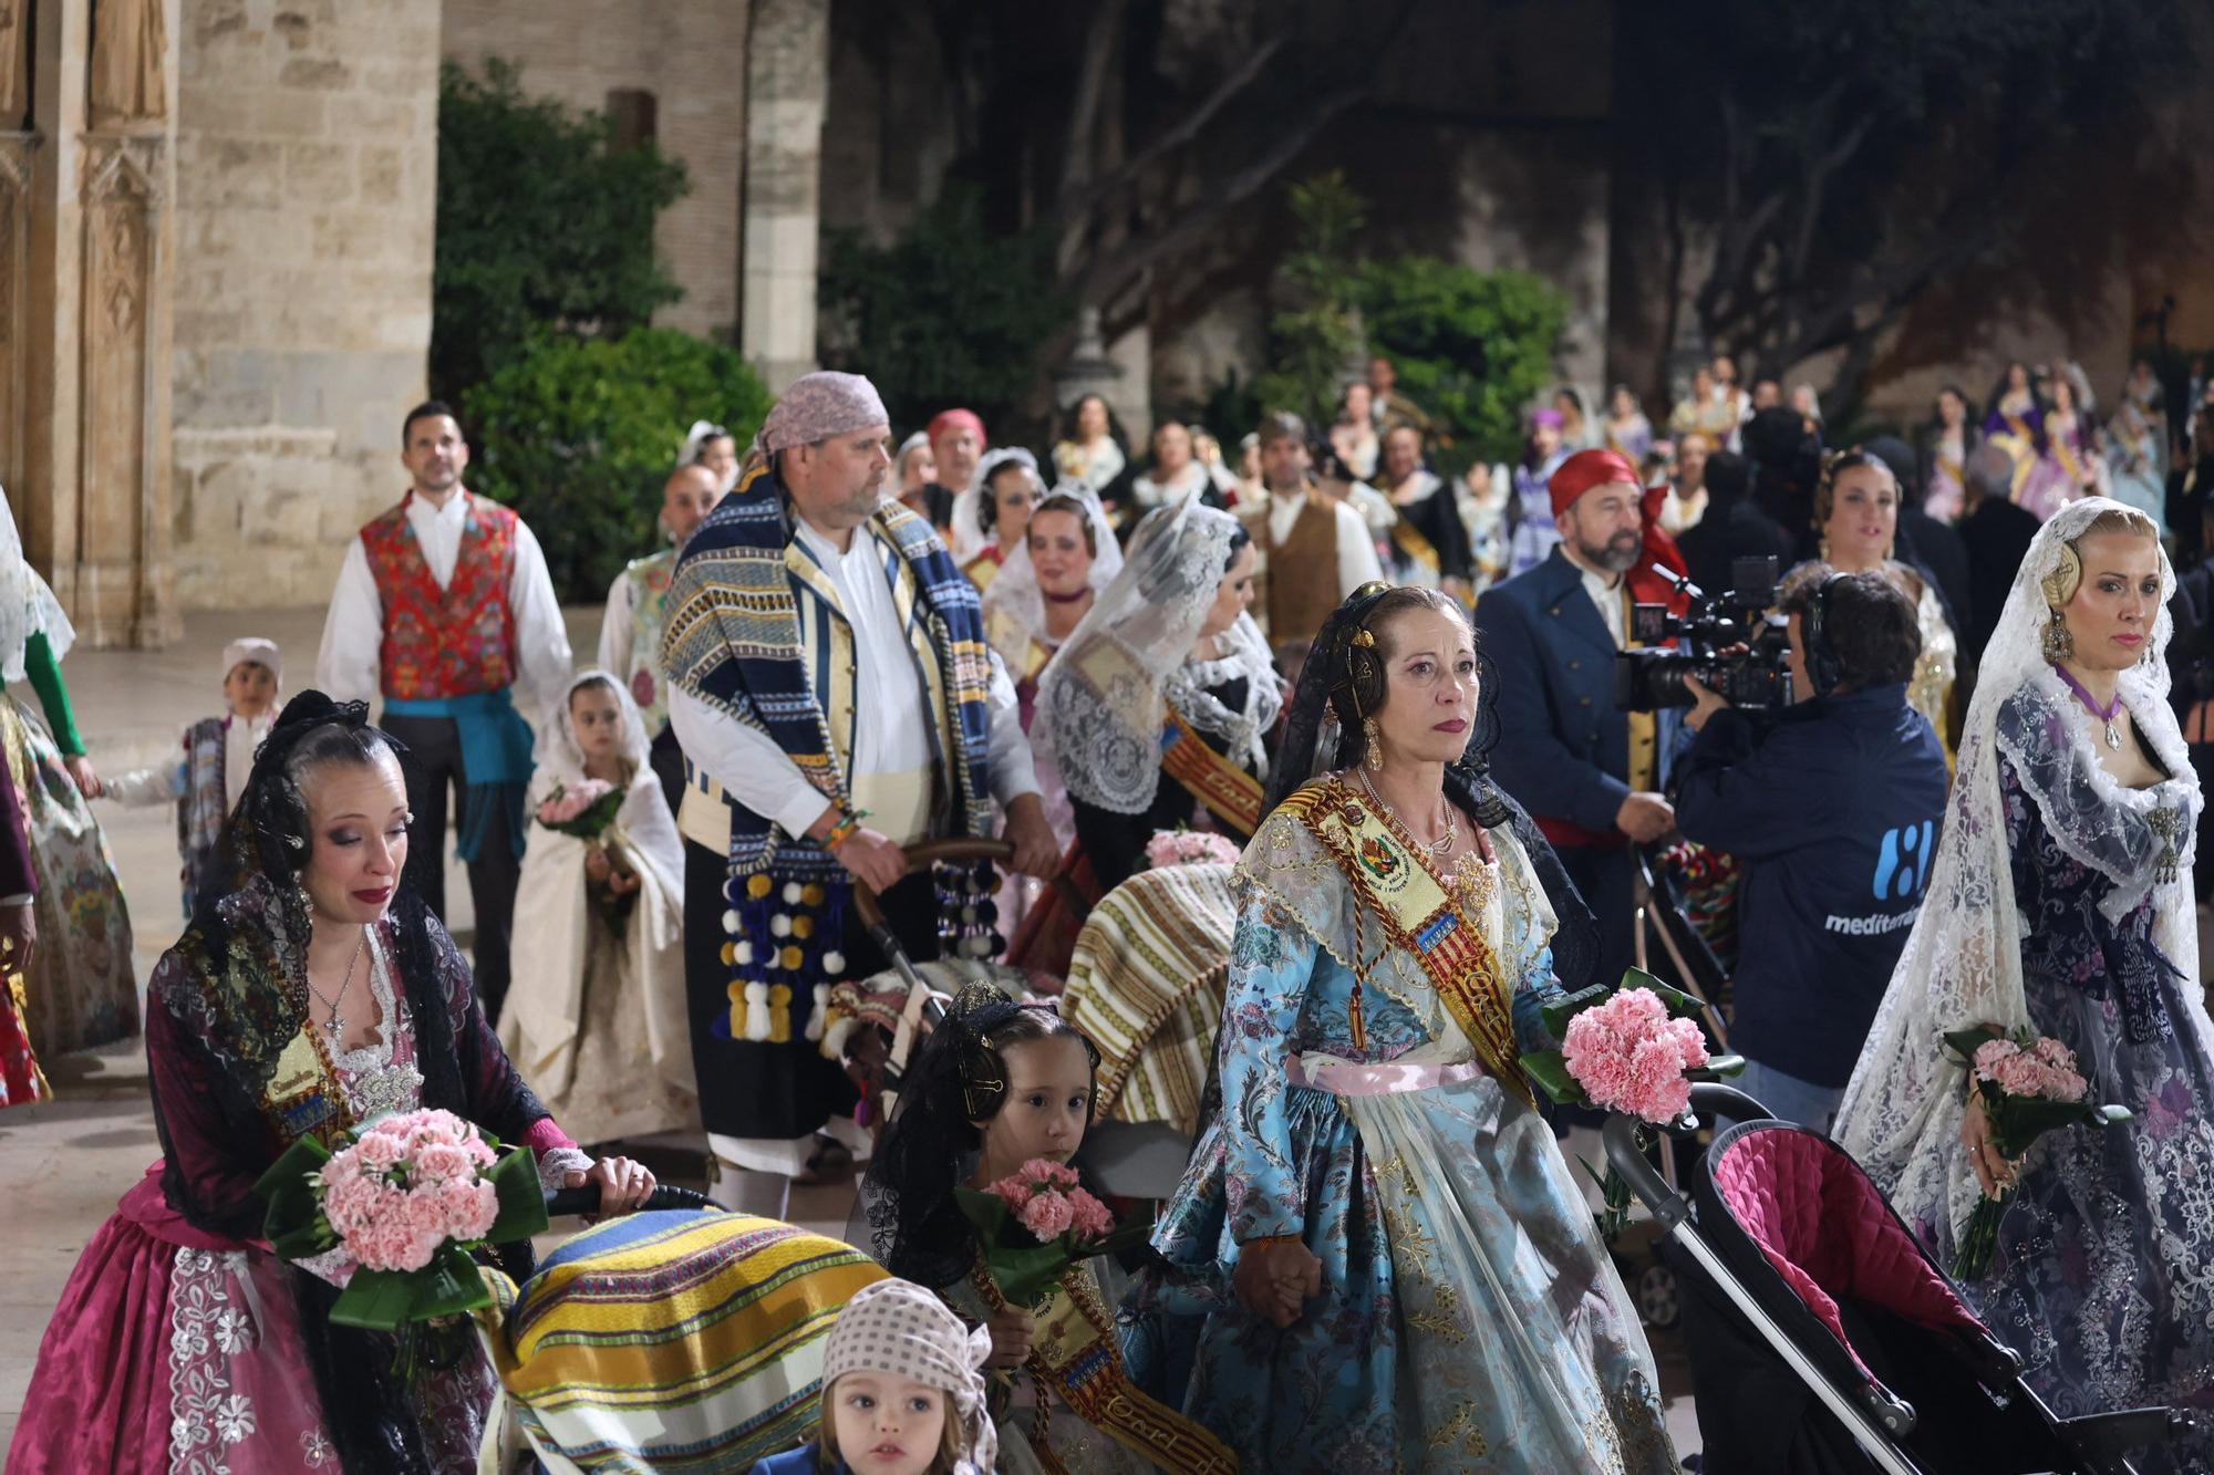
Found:
[[[1630,644],[1630,569],[1643,558],[1643,485],[1616,452],[1576,452],[1548,481],[1561,543],[1477,600],[1477,647],[1499,682],[1492,777],[1561,853],[1599,919],[1599,977],[1634,946],[1630,846],[1665,839],[1663,744],[1676,713],[1614,706],[1614,653]]]

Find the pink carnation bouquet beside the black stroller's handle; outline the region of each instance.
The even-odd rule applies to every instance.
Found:
[[[1691,1110],[1694,1081],[1720,1081],[1745,1070],[1736,1054],[1707,1050],[1700,1001],[1632,968],[1621,988],[1592,986],[1545,1005],[1556,1050],[1530,1050],[1521,1067],[1561,1105],[1599,1107],[1665,1127]],[[1599,1180],[1605,1209],[1599,1227],[1614,1238],[1630,1223],[1630,1185],[1614,1167],[1583,1165]]]

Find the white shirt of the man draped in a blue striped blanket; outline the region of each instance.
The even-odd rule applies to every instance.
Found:
[[[930,764],[930,731],[923,678],[914,669],[892,605],[883,565],[892,549],[872,532],[857,529],[848,551],[837,551],[806,520],[799,540],[830,576],[846,622],[852,627],[855,702],[848,777],[861,773],[908,773]],[[815,625],[799,620],[801,660],[815,662]],[[992,797],[1012,804],[1038,793],[1036,762],[1023,735],[1023,718],[999,656],[992,656],[990,709]],[[739,808],[762,815],[786,835],[804,835],[828,808],[821,791],[799,773],[799,764],[768,733],[746,726],[689,691],[669,687],[669,722],[684,755],[706,771]]]

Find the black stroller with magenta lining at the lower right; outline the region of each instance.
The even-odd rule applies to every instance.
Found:
[[[1727,1085],[1691,1203],[1612,1116],[1607,1163],[1680,1258],[1707,1475],[2132,1475],[2125,1451],[2192,1428],[2172,1409],[2061,1420],[2021,1380],[1862,1167]]]

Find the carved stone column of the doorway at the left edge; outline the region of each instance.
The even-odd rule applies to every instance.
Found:
[[[102,42],[93,4],[44,0],[31,38],[33,115],[0,135],[0,390],[20,436],[4,452],[18,527],[77,636],[93,647],[179,633],[168,558],[168,323],[177,0],[106,0],[128,20]],[[122,78],[131,78],[124,86]],[[97,126],[93,122],[97,113]],[[27,166],[27,168],[24,168]],[[24,202],[9,179],[29,179]],[[15,255],[20,250],[20,255]],[[7,434],[0,419],[0,434]]]

